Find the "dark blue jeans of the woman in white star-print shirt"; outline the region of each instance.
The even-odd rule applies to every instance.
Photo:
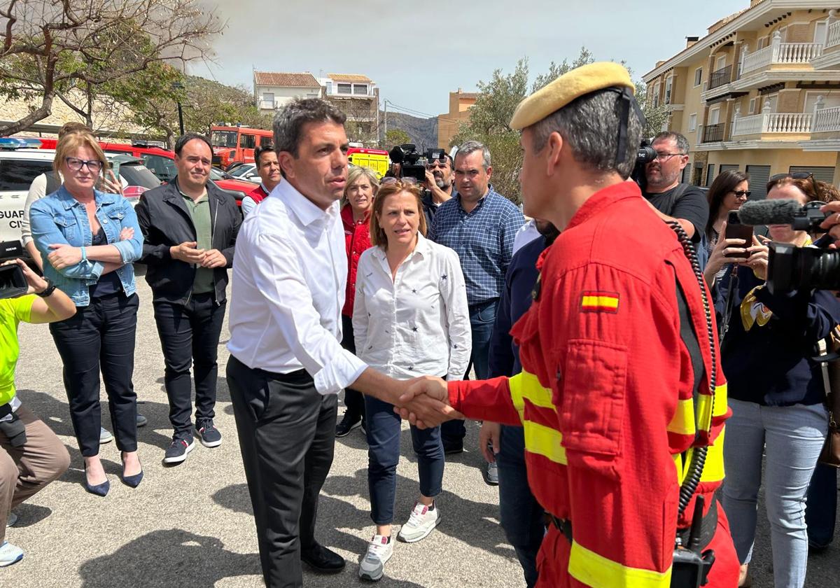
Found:
[[[396,501],[396,465],[400,461],[402,418],[394,405],[365,396],[368,438],[368,486],[370,518],[377,525],[394,522]],[[438,496],[444,484],[444,446],[440,428],[418,429],[412,426],[412,443],[417,454],[420,493]]]

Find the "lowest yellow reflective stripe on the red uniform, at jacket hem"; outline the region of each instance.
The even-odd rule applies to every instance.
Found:
[[[585,585],[611,588],[669,588],[671,569],[664,572],[629,568],[572,541],[569,574]]]

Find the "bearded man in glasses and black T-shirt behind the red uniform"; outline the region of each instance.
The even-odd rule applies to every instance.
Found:
[[[656,158],[644,168],[644,197],[659,218],[680,223],[691,240],[699,243],[709,218],[709,205],[701,188],[680,182],[688,165],[688,139],[665,131],[654,137],[651,147]]]

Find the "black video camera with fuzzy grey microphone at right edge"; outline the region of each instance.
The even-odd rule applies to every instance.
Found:
[[[802,206],[795,200],[744,202],[738,218],[744,224],[790,224],[795,231],[824,232],[824,202]],[[769,244],[767,287],[771,293],[793,290],[840,290],[840,251],[825,249],[834,239],[822,237],[815,247]]]

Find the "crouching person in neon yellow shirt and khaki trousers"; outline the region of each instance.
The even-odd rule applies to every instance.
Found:
[[[29,286],[26,294],[0,299],[0,567],[24,557],[24,550],[5,540],[6,527],[17,517],[12,508],[42,490],[70,467],[64,444],[15,395],[18,323],[55,323],[76,314],[76,305],[51,281],[17,264]]]

